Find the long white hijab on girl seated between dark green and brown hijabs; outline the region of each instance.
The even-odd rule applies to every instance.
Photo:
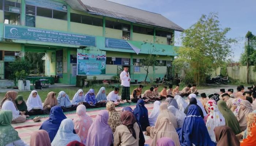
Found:
[[[33,108],[41,108],[43,109],[42,100],[37,93],[37,97],[33,97],[33,93],[37,93],[37,91],[31,91],[29,95],[29,99],[27,99],[27,111],[31,111]]]

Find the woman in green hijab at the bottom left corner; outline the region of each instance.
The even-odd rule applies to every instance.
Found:
[[[11,126],[12,111],[0,111],[0,146],[29,146]]]

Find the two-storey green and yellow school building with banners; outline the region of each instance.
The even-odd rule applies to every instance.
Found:
[[[183,28],[161,14],[106,0],[0,0],[1,78],[10,62],[24,58],[20,52],[40,52],[45,76],[59,75],[63,84],[76,84],[77,74],[108,80],[123,65],[130,66],[133,82],[143,81],[149,54],[157,62],[147,80],[155,80],[172,74],[175,31]],[[90,63],[87,55],[101,63]]]

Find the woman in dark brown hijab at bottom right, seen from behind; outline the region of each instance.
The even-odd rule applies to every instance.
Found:
[[[228,126],[218,126],[214,128],[217,146],[240,146],[240,142],[232,129]]]

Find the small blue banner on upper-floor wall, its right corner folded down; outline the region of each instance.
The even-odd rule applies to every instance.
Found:
[[[117,49],[125,49],[125,50],[133,50],[129,43],[123,39],[105,39],[105,47],[107,48],[117,48]]]

